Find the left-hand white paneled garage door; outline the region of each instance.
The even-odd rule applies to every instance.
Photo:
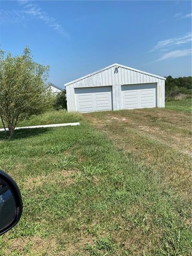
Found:
[[[75,101],[82,113],[112,110],[111,86],[75,88]]]

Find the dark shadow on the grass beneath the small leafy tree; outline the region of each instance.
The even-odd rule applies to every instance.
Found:
[[[33,136],[37,136],[39,134],[44,134],[50,132],[51,128],[33,128],[33,129],[21,129],[15,130],[12,138],[9,136],[9,132],[7,134],[2,131],[0,132],[0,140],[17,140],[23,138],[29,138]]]

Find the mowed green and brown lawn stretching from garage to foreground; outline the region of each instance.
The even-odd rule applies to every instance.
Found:
[[[24,200],[0,255],[190,255],[191,115],[143,109],[79,119],[11,140],[0,133],[0,168]]]

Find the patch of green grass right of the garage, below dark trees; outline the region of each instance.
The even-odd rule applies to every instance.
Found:
[[[175,111],[181,111],[185,113],[191,113],[192,112],[192,99],[187,98],[183,100],[172,100],[172,101],[166,101],[165,107],[168,110],[175,110]]]

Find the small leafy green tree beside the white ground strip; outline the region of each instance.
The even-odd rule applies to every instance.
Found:
[[[49,66],[33,61],[28,47],[21,56],[0,50],[0,116],[11,136],[19,122],[48,108],[48,71]]]

